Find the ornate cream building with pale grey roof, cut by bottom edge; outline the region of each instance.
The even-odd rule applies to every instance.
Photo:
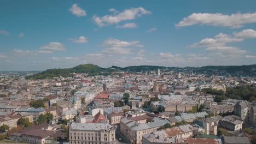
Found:
[[[115,129],[108,123],[72,123],[69,127],[71,144],[115,144]]]

